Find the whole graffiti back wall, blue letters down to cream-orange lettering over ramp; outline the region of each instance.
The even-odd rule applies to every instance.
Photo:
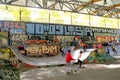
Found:
[[[23,42],[29,45],[25,47],[27,53],[34,55],[35,53],[57,55],[61,46],[75,46],[80,39],[86,44],[116,40],[118,33],[116,29],[107,28],[9,21],[0,21],[0,29],[10,31],[12,45],[15,42]],[[37,48],[34,48],[36,45]]]

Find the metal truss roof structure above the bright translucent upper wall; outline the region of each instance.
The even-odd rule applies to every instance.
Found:
[[[120,19],[120,0],[0,0],[0,3]]]

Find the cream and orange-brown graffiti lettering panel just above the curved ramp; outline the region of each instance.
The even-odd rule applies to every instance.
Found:
[[[34,46],[26,47],[27,56],[55,56],[58,52],[58,46]]]

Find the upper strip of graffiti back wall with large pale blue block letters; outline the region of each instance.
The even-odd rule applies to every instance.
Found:
[[[119,30],[108,28],[94,28],[87,26],[74,26],[74,25],[59,25],[59,24],[44,24],[44,23],[28,23],[28,22],[13,22],[13,21],[0,21],[1,31],[10,31],[12,40],[26,40],[38,39],[53,40],[59,37],[60,40],[72,39],[75,36],[92,37],[97,36],[116,36]],[[24,34],[22,37],[20,34]],[[27,36],[26,36],[27,35]],[[70,36],[70,38],[68,38]],[[69,41],[69,40],[67,40]]]

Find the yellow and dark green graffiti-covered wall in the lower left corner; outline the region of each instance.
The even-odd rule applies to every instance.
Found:
[[[0,47],[0,80],[20,80],[18,59],[9,47]]]

